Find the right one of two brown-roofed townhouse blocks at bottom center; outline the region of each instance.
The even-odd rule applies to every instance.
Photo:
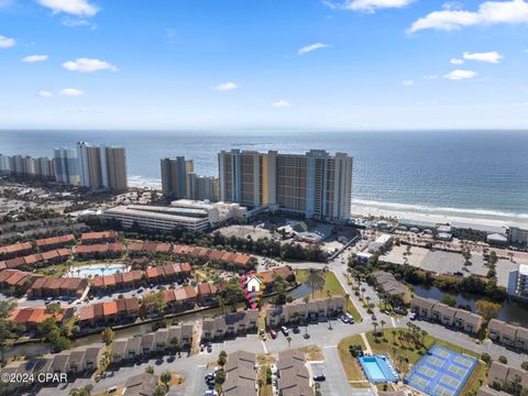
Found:
[[[276,366],[279,396],[314,396],[302,352],[293,350],[279,352]]]

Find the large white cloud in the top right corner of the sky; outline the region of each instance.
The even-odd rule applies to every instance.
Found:
[[[486,1],[477,11],[443,10],[433,11],[415,21],[409,32],[426,29],[453,31],[474,25],[528,23],[528,3],[525,0]]]

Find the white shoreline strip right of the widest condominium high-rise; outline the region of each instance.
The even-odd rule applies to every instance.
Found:
[[[378,209],[394,210],[394,211],[416,211],[431,215],[465,215],[472,217],[486,217],[497,219],[528,219],[528,213],[517,213],[503,210],[490,210],[490,209],[465,209],[465,208],[451,208],[451,207],[432,207],[426,205],[415,204],[396,204],[396,202],[383,202],[365,199],[352,199],[352,205],[363,207],[375,207]]]

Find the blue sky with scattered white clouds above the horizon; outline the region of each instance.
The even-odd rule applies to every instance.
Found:
[[[0,129],[528,128],[525,0],[0,0]]]

